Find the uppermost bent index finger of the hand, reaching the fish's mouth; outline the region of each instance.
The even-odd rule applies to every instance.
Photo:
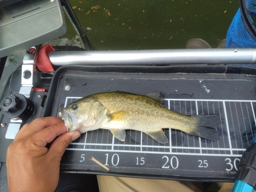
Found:
[[[31,123],[27,124],[25,129],[22,131],[22,133],[19,134],[19,138],[25,138],[28,136],[31,136],[46,127],[62,123],[63,120],[61,120],[58,117],[42,117],[42,118],[37,118],[33,120]],[[22,128],[23,129],[23,128]]]

